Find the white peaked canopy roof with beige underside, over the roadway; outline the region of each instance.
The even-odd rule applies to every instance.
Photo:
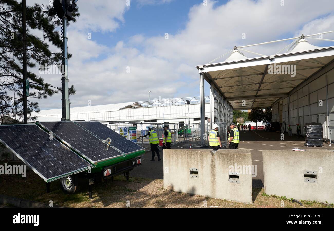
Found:
[[[203,65],[203,75],[234,109],[265,108],[333,60],[334,47],[313,46],[301,38],[290,52],[275,56],[247,58],[233,50],[224,62]]]

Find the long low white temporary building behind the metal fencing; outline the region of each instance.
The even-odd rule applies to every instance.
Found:
[[[189,105],[187,104],[189,101]],[[210,122],[210,97],[206,96],[205,107],[207,113],[205,121]],[[127,103],[114,103],[105,105],[92,105],[83,107],[71,107],[71,120],[97,120],[97,121],[140,121],[143,123],[163,123],[164,120],[171,124],[199,123],[200,99],[197,97],[156,99],[150,101],[137,101]],[[34,113],[39,121],[60,121],[61,109],[41,110]],[[229,117],[232,116],[232,107],[228,108]]]

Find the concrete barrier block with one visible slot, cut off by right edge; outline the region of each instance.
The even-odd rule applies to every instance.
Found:
[[[296,200],[334,203],[334,153],[264,150],[265,192]]]

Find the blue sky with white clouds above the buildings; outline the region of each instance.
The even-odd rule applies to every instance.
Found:
[[[198,96],[195,66],[235,45],[333,30],[332,1],[285,0],[284,5],[282,1],[208,0],[205,5],[202,0],[130,0],[127,6],[127,0],[79,0],[81,16],[68,28],[68,51],[73,55],[68,62],[69,84],[77,90],[70,97],[71,106],[142,101],[148,99],[147,91],[152,92],[151,99]],[[33,2],[49,1],[27,4]],[[288,43],[257,52],[275,54]],[[60,85],[58,75],[42,77]],[[60,97],[40,100],[40,108],[59,108]]]

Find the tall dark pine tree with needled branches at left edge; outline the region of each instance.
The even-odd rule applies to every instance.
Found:
[[[39,5],[26,7],[27,20],[27,66],[35,68],[41,65],[61,66],[61,34],[56,27],[61,26],[56,16],[49,16],[49,6]],[[77,17],[77,9],[73,16]],[[75,19],[73,19],[75,21]],[[43,36],[38,37],[31,33],[39,30]],[[23,42],[22,42],[22,3],[16,0],[0,0],[0,117],[12,117],[17,120],[23,118]],[[59,52],[49,50],[53,44]],[[68,54],[68,58],[71,54]],[[51,66],[52,67],[52,66]],[[59,85],[61,86],[61,74]],[[51,86],[43,78],[27,70],[29,80],[29,96],[27,102],[28,119],[32,111],[39,111],[38,103],[33,100],[47,98],[58,93],[61,87]],[[69,94],[74,94],[73,85]]]

